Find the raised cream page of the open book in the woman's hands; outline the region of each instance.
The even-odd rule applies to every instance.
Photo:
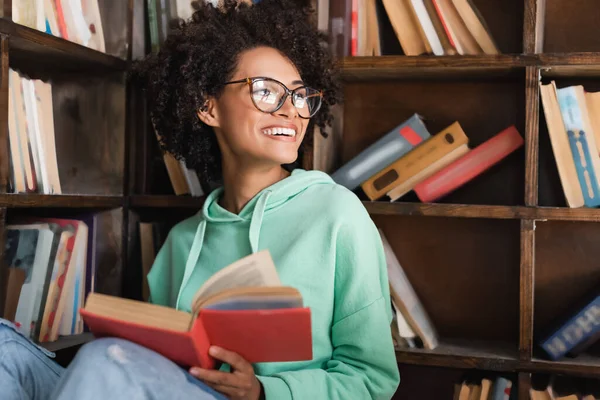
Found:
[[[225,289],[251,286],[281,286],[268,250],[244,257],[214,274],[198,289],[192,304]]]

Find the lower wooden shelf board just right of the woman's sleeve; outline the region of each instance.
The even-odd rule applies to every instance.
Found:
[[[510,343],[450,339],[443,339],[433,350],[396,350],[396,360],[403,364],[490,371],[513,371],[518,365],[517,349]]]

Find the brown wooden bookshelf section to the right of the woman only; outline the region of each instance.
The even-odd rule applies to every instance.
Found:
[[[335,160],[328,172],[415,112],[432,134],[458,120],[470,147],[515,124],[524,147],[436,203],[358,193],[439,329],[438,348],[397,350],[401,375],[427,385],[430,371],[514,374],[515,398],[524,400],[532,374],[600,379],[600,347],[552,362],[536,342],[553,317],[600,282],[600,212],[566,205],[538,86],[554,79],[600,89],[592,22],[600,11],[593,0],[473,3],[502,54],[405,56],[384,26],[386,55],[340,59],[344,104],[328,139]],[[423,390],[401,384],[397,398]],[[452,393],[449,383],[435,398]]]

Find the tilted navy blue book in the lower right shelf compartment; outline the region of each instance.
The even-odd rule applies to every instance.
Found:
[[[541,347],[552,360],[558,360],[599,330],[600,296],[597,296],[543,340]]]

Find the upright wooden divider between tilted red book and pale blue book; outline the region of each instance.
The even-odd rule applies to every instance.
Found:
[[[525,205],[538,202],[538,142],[540,86],[537,67],[526,68],[525,79]]]

